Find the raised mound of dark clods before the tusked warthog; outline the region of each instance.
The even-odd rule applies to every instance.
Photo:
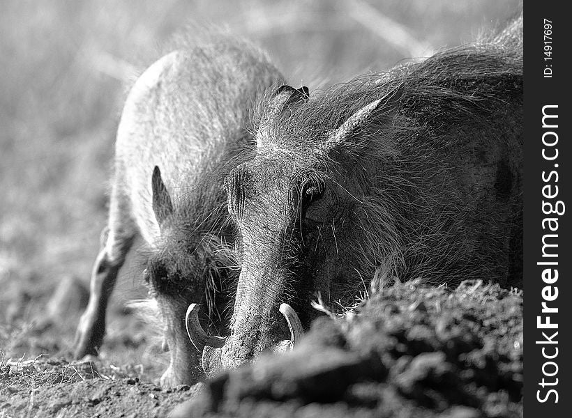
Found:
[[[396,284],[299,348],[223,373],[176,417],[520,417],[522,292]]]

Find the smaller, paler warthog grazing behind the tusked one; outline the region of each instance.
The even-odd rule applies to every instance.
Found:
[[[202,340],[195,336],[193,346],[188,338],[186,309],[206,304],[209,317],[218,317],[224,302],[216,295],[236,265],[232,251],[225,251],[234,227],[227,222],[223,179],[249,140],[253,102],[283,83],[266,56],[246,42],[213,35],[204,45],[180,43],[137,79],[123,108],[107,234],[75,340],[75,357],[98,353],[116,275],[141,235],[149,294],[171,357],[162,385],[190,384],[202,374],[195,348],[202,351]],[[196,325],[197,309],[192,314]]]

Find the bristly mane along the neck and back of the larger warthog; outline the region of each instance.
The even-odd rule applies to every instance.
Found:
[[[428,117],[447,114],[462,118],[465,112],[487,114],[498,107],[502,87],[511,91],[522,84],[522,43],[518,36],[483,40],[471,45],[446,49],[422,63],[401,65],[389,72],[363,75],[350,82],[338,84],[310,96],[308,102],[298,102],[272,123],[285,136],[290,134],[303,141],[329,134],[355,111],[370,102],[402,91],[398,101],[390,102],[381,111]],[[501,41],[504,40],[505,43]],[[520,46],[519,46],[520,45]],[[266,91],[259,100],[250,131],[257,132],[257,123],[268,107],[274,91]],[[419,108],[419,103],[423,107]],[[427,109],[432,109],[430,112]],[[419,122],[428,122],[419,120]],[[451,121],[455,122],[455,121]],[[300,137],[303,135],[303,137]]]

